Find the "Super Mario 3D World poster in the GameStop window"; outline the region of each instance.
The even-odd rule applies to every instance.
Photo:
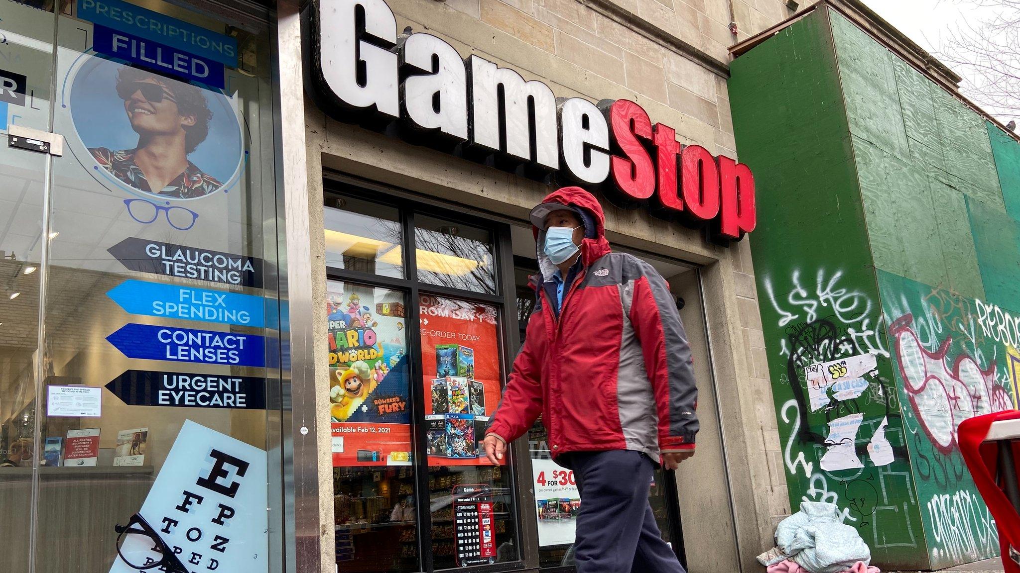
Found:
[[[403,295],[330,282],[326,307],[334,466],[410,465]]]

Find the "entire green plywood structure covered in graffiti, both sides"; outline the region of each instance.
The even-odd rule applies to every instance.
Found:
[[[837,503],[883,569],[996,555],[955,428],[1017,400],[1020,145],[829,8],[729,91],[792,508]]]

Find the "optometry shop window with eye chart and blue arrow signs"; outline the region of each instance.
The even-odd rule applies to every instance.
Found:
[[[0,571],[283,568],[267,20],[0,0]]]

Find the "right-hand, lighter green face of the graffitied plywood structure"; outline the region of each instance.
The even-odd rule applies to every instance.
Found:
[[[992,557],[994,528],[955,441],[962,419],[1011,406],[996,381],[1009,379],[1006,349],[975,320],[977,301],[1020,302],[1020,243],[986,121],[836,13],[832,35],[928,567]],[[991,378],[959,373],[958,359]],[[924,364],[937,382],[911,377]]]

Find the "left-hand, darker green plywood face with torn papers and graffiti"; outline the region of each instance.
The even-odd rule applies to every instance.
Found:
[[[757,186],[751,246],[790,507],[834,502],[876,563],[923,567],[923,550],[903,551],[923,548],[921,517],[826,13],[779,32],[731,71],[737,151]],[[867,381],[866,393],[809,389],[813,365],[844,361],[854,375],[838,381]],[[830,454],[836,441],[849,448]]]

